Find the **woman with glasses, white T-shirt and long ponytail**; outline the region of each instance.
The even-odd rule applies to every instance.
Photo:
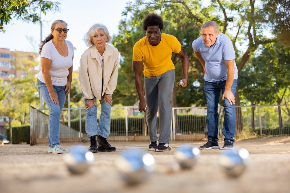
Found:
[[[60,146],[59,119],[66,95],[70,93],[73,73],[73,44],[66,40],[67,23],[56,20],[50,34],[40,43],[41,71],[38,73],[38,89],[49,109],[48,153],[68,152]]]

